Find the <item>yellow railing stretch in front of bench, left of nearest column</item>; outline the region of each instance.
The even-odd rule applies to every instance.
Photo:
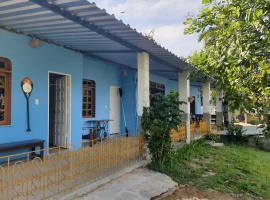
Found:
[[[143,136],[95,141],[79,150],[45,149],[54,153],[43,159],[20,160],[17,154],[0,157],[0,199],[47,199],[80,185],[111,175],[141,160]],[[31,154],[33,152],[28,152]]]

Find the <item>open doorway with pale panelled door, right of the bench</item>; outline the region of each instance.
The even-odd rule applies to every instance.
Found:
[[[49,72],[49,146],[70,144],[70,76]]]

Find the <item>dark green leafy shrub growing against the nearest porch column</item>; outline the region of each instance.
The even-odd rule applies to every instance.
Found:
[[[168,161],[171,154],[171,129],[180,123],[182,111],[179,106],[178,94],[170,92],[167,96],[156,94],[152,105],[144,108],[142,128],[149,148],[152,164],[159,167]]]

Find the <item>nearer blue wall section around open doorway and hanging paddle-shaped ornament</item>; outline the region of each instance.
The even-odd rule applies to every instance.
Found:
[[[80,146],[82,55],[45,42],[38,48],[30,48],[29,41],[27,36],[0,29],[0,56],[12,61],[12,124],[0,126],[0,141],[6,143],[27,139],[47,140],[48,71],[55,71],[72,76],[72,141],[75,146]],[[25,76],[30,77],[34,83],[30,99],[32,132],[26,132],[26,101],[20,86]],[[34,104],[35,99],[39,99],[39,105]]]

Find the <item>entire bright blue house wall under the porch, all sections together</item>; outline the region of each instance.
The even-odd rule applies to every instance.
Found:
[[[0,56],[12,61],[12,124],[0,126],[0,143],[27,139],[48,139],[48,72],[71,75],[72,89],[72,144],[81,146],[82,126],[82,79],[96,81],[96,119],[109,118],[110,86],[123,89],[123,106],[130,134],[137,133],[137,72],[134,69],[113,66],[84,57],[65,48],[42,42],[38,48],[29,47],[30,38],[0,29]],[[30,99],[31,128],[26,132],[26,101],[20,82],[28,76],[34,83]],[[166,94],[178,90],[177,81],[150,75],[150,80],[165,84]],[[191,87],[191,94],[198,90]],[[35,105],[35,99],[39,105]],[[196,112],[199,108],[196,107]],[[121,109],[121,132],[124,133],[123,110]],[[48,143],[46,142],[46,146]]]

